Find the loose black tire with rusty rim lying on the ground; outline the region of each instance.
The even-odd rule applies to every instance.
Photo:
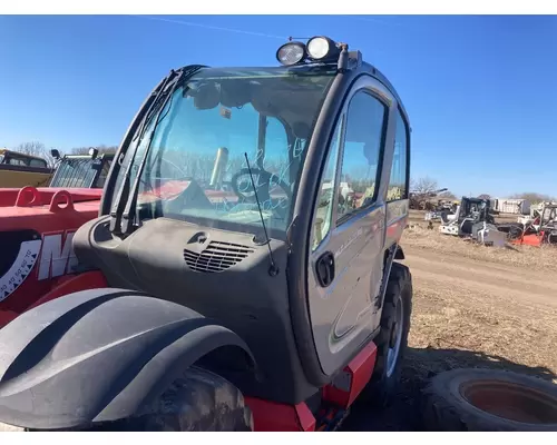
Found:
[[[436,432],[555,432],[557,385],[494,369],[453,369],[423,389],[422,416]]]

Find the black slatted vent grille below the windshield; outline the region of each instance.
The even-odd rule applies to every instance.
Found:
[[[201,254],[184,249],[184,259],[192,270],[212,274],[237,265],[253,253],[246,246],[211,241]]]

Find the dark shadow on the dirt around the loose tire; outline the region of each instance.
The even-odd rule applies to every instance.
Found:
[[[551,382],[557,375],[545,367],[529,367],[502,357],[460,349],[408,348],[403,360],[399,394],[390,406],[372,408],[356,402],[342,425],[342,431],[420,432],[423,431],[420,402],[428,378],[455,368],[505,369]]]

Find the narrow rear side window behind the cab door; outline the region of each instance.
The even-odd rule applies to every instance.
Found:
[[[394,152],[392,155],[391,179],[387,200],[405,199],[408,196],[407,184],[408,169],[408,126],[400,113],[397,113],[397,134],[394,135]]]

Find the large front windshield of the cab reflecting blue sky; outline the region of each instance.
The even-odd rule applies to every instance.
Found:
[[[139,218],[258,231],[258,198],[266,228],[284,233],[306,145],[333,78],[334,71],[307,68],[198,71],[147,125],[152,138],[138,190]],[[148,147],[145,136],[133,160],[133,180]]]

